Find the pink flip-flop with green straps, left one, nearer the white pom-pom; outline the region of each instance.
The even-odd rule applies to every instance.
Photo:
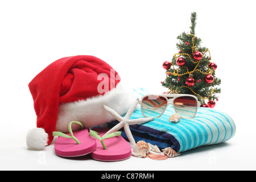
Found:
[[[56,154],[65,158],[90,154],[96,149],[96,140],[89,135],[88,129],[73,133],[71,130],[72,123],[77,123],[83,128],[81,122],[72,121],[68,125],[69,134],[53,131],[53,136],[59,136],[54,144]]]

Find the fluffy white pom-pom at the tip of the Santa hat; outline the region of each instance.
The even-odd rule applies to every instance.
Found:
[[[47,146],[48,134],[42,128],[29,130],[27,133],[27,147],[31,150],[42,150]]]

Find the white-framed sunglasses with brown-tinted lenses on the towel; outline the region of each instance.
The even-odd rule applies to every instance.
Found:
[[[196,96],[189,94],[147,94],[139,101],[141,112],[144,117],[159,118],[166,111],[167,106],[172,104],[176,113],[181,118],[193,118],[197,113],[200,102]]]

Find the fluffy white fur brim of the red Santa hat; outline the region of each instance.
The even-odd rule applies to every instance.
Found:
[[[68,102],[59,105],[58,117],[56,123],[56,131],[68,132],[68,123],[71,121],[80,121],[85,128],[102,125],[110,121],[114,121],[103,107],[109,106],[118,114],[124,115],[135,97],[132,90],[127,90],[119,82],[115,88],[105,93],[103,96],[88,98],[86,101],[80,100]],[[72,126],[72,130],[79,130],[80,126]]]

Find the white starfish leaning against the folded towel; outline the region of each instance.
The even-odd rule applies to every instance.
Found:
[[[137,98],[136,101],[134,101],[134,104],[131,105],[129,110],[127,111],[125,117],[121,117],[116,111],[111,109],[110,107],[104,105],[104,109],[108,111],[109,114],[111,114],[119,123],[115,125],[112,129],[110,129],[105,135],[108,135],[110,133],[113,133],[115,131],[118,131],[123,127],[125,129],[125,133],[127,135],[127,138],[129,139],[132,146],[136,144],[133,135],[131,134],[131,130],[129,125],[136,125],[139,123],[146,123],[148,121],[152,121],[154,118],[138,118],[138,119],[130,119],[131,114],[133,114],[134,110],[136,109],[136,106],[138,105],[139,99]]]

